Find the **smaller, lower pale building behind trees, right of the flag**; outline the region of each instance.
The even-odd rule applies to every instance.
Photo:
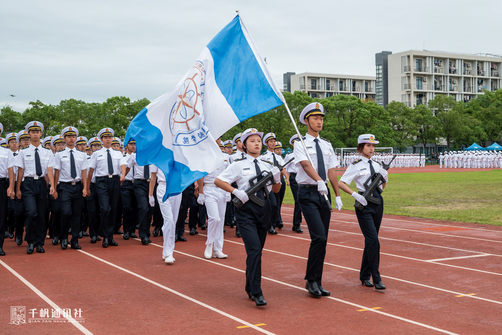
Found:
[[[375,98],[375,77],[326,73],[299,73],[291,76],[291,92],[306,92],[312,98],[337,94],[355,95],[360,99]]]

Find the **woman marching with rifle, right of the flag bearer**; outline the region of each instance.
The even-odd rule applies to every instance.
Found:
[[[381,185],[382,190],[385,188],[388,177],[387,171],[382,169],[380,164],[375,163],[373,166],[371,156],[374,153],[375,144],[379,141],[375,140],[372,134],[360,135],[357,138],[357,151],[362,155],[360,159],[353,161],[345,170],[338,186],[344,192],[350,194],[356,201],[364,206],[362,211],[355,209],[355,215],[361,227],[361,232],[364,235],[364,251],[362,253],[361,271],[359,279],[366,287],[373,287],[378,290],[385,290],[382,283],[382,278],[379,272],[380,263],[380,242],[378,240],[378,232],[382,223],[384,214],[384,200],[378,191],[373,192],[373,197],[380,199],[380,204],[376,205],[367,202],[360,194],[365,191],[364,184],[373,173],[380,173],[384,177],[385,183]],[[355,187],[359,193],[352,191],[348,186],[352,181],[355,182]],[[373,283],[369,281],[370,276],[373,278]]]

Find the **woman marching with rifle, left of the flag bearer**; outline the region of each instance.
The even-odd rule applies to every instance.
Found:
[[[264,207],[260,207],[249,198],[245,192],[249,188],[249,179],[261,175],[262,172],[272,172],[274,185],[268,185],[269,192],[279,192],[281,189],[281,172],[271,162],[260,159],[262,149],[263,132],[258,132],[255,128],[246,129],[240,139],[244,149],[244,157],[236,159],[230,164],[214,184],[220,189],[232,193],[242,203],[240,209],[235,209],[235,217],[239,232],[246,249],[246,285],[245,291],[248,297],[255,301],[257,306],[267,304],[263,296],[262,281],[262,250],[267,238],[267,231],[270,226],[270,201],[269,195],[265,198],[264,190],[259,190],[256,196],[265,200]],[[238,189],[231,186],[236,182]]]

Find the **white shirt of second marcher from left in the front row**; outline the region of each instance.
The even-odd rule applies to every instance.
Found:
[[[16,155],[16,166],[24,169],[23,177],[39,177],[37,176],[37,170],[35,165],[35,148],[38,149],[38,154],[40,156],[40,164],[42,166],[42,175],[40,178],[44,178],[47,174],[47,169],[54,166],[54,154],[52,151],[41,144],[35,147],[33,144],[19,150]]]

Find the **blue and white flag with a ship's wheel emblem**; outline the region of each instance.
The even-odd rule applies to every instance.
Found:
[[[166,176],[166,196],[181,193],[222,164],[215,138],[284,103],[253,38],[237,15],[204,48],[176,88],[151,102],[129,125],[140,165]]]

